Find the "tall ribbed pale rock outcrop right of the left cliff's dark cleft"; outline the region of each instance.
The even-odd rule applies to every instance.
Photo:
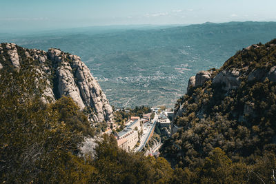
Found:
[[[106,117],[112,116],[106,95],[79,57],[72,54],[66,56],[57,49],[50,49],[48,53],[52,61],[60,63],[57,67],[60,95],[70,96],[81,109],[92,107],[97,112],[93,119],[97,121],[105,121]]]

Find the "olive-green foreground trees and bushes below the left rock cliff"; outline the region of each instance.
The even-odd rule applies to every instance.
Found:
[[[167,183],[172,168],[164,158],[128,153],[103,136],[95,155],[79,155],[92,136],[87,117],[68,97],[41,102],[43,85],[32,69],[0,71],[0,182]]]

